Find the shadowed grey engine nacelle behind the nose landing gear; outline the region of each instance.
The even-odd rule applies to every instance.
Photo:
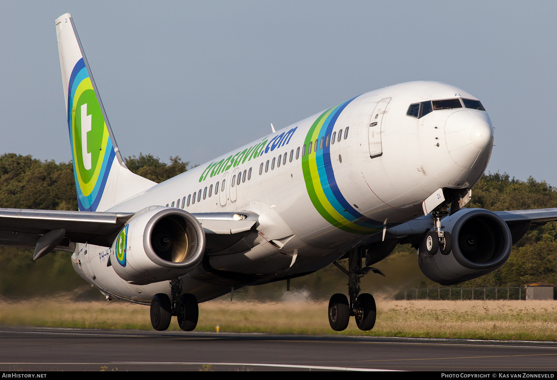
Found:
[[[451,233],[448,255],[418,251],[418,265],[428,279],[453,285],[499,269],[511,254],[512,237],[497,214],[481,208],[458,211],[442,220],[442,230]]]

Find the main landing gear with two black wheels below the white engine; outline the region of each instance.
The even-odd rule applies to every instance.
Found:
[[[199,307],[193,294],[182,294],[182,282],[179,279],[170,281],[172,300],[167,294],[157,293],[151,301],[151,324],[158,331],[168,329],[172,316],[178,319],[180,329],[192,331],[197,326]]]

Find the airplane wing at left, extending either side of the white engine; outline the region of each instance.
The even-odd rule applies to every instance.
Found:
[[[0,208],[0,246],[37,250],[39,240],[50,233],[55,236],[50,240],[58,242],[57,245],[50,247],[55,251],[73,252],[75,243],[110,247],[116,233],[134,215],[133,212]],[[192,215],[199,220],[205,233],[209,235],[232,235],[249,231],[258,218],[256,214],[249,212],[212,212]],[[238,215],[241,217],[239,218]]]

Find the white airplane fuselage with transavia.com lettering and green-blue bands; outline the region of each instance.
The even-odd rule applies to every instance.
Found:
[[[331,114],[323,127],[315,123],[323,113],[310,116],[107,211],[136,212],[152,205],[191,213],[252,211],[260,216],[257,242],[271,247],[269,241],[278,241],[283,245],[280,251],[275,244],[271,247],[275,251],[256,259],[244,252],[250,265],[242,260],[234,264],[233,255],[213,255],[215,269],[259,276],[261,280],[254,283],[319,270],[384,225],[392,227],[422,215],[422,202],[438,188],[471,188],[480,179],[493,137],[486,111],[439,109],[419,119],[407,115],[411,104],[456,98],[476,99],[457,87],[426,81],[368,92],[333,108],[336,116]],[[334,143],[328,143],[333,134]],[[314,150],[316,139],[319,146]],[[312,151],[307,153],[310,141]],[[79,244],[72,255],[75,269],[107,295],[149,303],[156,293],[169,294],[168,281],[131,285],[121,279],[106,266],[109,250]],[[184,293],[196,294],[199,301],[230,291],[230,286],[210,279],[185,275],[183,281]]]

